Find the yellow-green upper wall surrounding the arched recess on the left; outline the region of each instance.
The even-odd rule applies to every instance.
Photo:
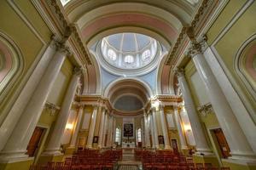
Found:
[[[12,85],[6,98],[0,103],[0,116],[6,104],[14,102],[14,99],[11,100],[11,97],[15,93],[19,94],[17,89],[25,85],[20,83],[21,80],[31,68],[40,51],[45,48],[44,44],[49,43],[51,35],[51,31],[49,31],[48,26],[46,26],[36,8],[33,7],[31,1],[15,0],[13,5],[20,9],[21,15],[17,14],[7,1],[1,1],[0,31],[10,37],[20,48],[22,58],[24,59],[24,69],[18,80]],[[21,17],[26,18],[32,26],[29,26]],[[36,30],[36,33],[32,29]]]

